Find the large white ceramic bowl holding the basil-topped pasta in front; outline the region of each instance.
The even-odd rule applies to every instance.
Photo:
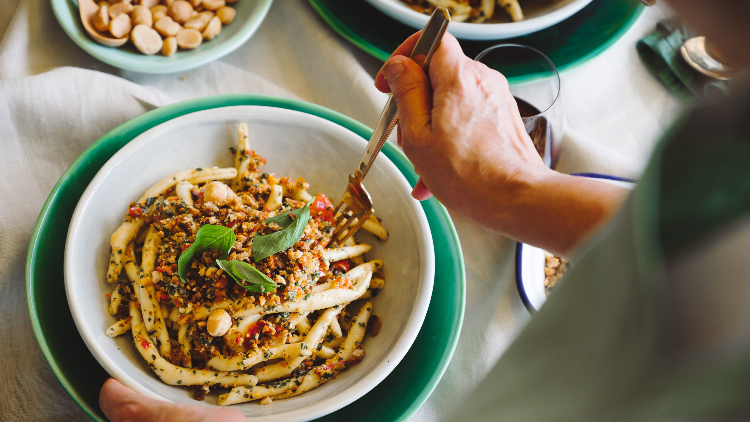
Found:
[[[333,201],[344,192],[366,142],[338,124],[289,109],[231,106],[193,112],[142,133],[117,152],[97,173],[74,212],[65,246],[65,288],[77,328],[86,346],[110,375],[133,390],[160,400],[216,406],[217,391],[205,402],[192,392],[165,385],[146,366],[129,334],[110,338],[104,331],[115,317],[107,313],[113,286],[105,280],[110,235],[127,205],[155,181],[182,169],[232,166],[237,124],[248,124],[251,148],[266,157],[266,171],[304,177],[311,193]],[[373,313],[383,320],[377,337],[365,337],[365,358],[336,379],[299,397],[267,406],[233,405],[252,421],[310,421],[352,403],[382,381],[401,361],[425,319],[434,280],[434,249],[422,206],[411,187],[383,154],[365,179],[376,214],[391,233],[373,245],[368,258],[385,262],[386,287],[373,298]],[[86,370],[82,368],[81,370]],[[223,389],[219,389],[223,393]]]

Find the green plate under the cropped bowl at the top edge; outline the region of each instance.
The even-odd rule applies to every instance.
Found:
[[[371,4],[366,3],[365,0],[308,0],[308,2],[320,14],[323,20],[331,25],[342,37],[380,61],[386,61],[390,57],[393,50],[399,45],[400,40],[405,40],[410,34],[416,32],[416,29],[392,19],[390,16],[371,6]],[[341,7],[341,4],[344,4],[344,2],[347,3],[347,7]],[[602,11],[601,7],[605,7],[605,10]],[[459,42],[464,52],[470,57],[475,57],[482,49],[497,43],[526,44],[548,55],[559,71],[570,70],[589,61],[605,49],[608,49],[613,43],[616,43],[617,40],[643,17],[645,12],[646,6],[637,0],[594,0],[568,19],[532,34],[502,40],[459,40]],[[401,34],[398,38],[399,42],[395,43],[390,50],[377,46],[371,40],[368,40],[367,37],[362,36],[358,31],[354,30],[352,28],[353,25],[345,22],[347,15],[354,13],[369,16],[368,24],[371,27],[377,25],[387,28],[386,32],[396,34],[394,37],[399,37],[398,34]],[[554,51],[544,48],[545,42],[556,39],[556,36],[559,34],[559,28],[571,25],[571,22],[582,19],[589,19],[590,21],[600,19],[604,20],[604,23],[610,23],[611,25],[605,25],[607,28],[604,31],[591,31],[591,34],[580,34],[578,32],[571,34],[568,39],[576,40],[575,38],[577,37],[577,45],[565,43],[565,49],[562,50],[562,53],[565,55],[556,55]],[[361,28],[360,25],[354,26]],[[583,25],[580,25],[580,27],[582,28]],[[597,26],[597,28],[601,28],[601,25]],[[592,36],[601,37],[601,39],[592,44]],[[583,43],[592,45],[586,46]]]

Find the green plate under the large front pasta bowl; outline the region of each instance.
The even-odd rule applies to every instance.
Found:
[[[89,415],[95,421],[107,421],[98,408],[98,390],[101,383],[107,378],[107,373],[96,363],[83,344],[83,340],[80,337],[75,337],[74,340],[78,340],[78,343],[80,343],[78,344],[79,349],[83,348],[85,353],[66,356],[64,359],[75,361],[73,367],[86,368],[86,370],[78,370],[80,373],[86,374],[87,382],[90,380],[89,385],[94,387],[94,397],[88,397],[87,400],[73,385],[73,382],[68,379],[61,362],[58,361],[58,357],[52,353],[55,348],[58,348],[58,350],[69,348],[75,341],[48,338],[43,332],[42,326],[42,321],[46,320],[46,316],[49,316],[49,318],[68,322],[69,325],[72,325],[68,326],[68,330],[74,329],[68,301],[65,298],[65,287],[62,283],[62,250],[65,249],[68,225],[80,195],[101,166],[123,145],[140,133],[145,132],[145,130],[190,112],[222,106],[242,105],[275,106],[307,112],[340,124],[364,139],[369,139],[372,133],[370,127],[353,118],[301,100],[261,94],[228,94],[187,100],[139,115],[99,138],[89,148],[86,148],[63,173],[40,211],[26,257],[26,302],[31,319],[31,329],[34,331],[39,349],[55,377],[78,406],[86,412],[86,415]],[[418,177],[413,172],[413,166],[400,149],[386,143],[383,147],[383,153],[404,173],[410,184],[416,184]],[[463,253],[458,240],[458,233],[446,208],[436,199],[422,202],[422,207],[427,214],[433,233],[436,262],[435,286],[422,330],[404,360],[380,385],[349,406],[345,406],[317,421],[352,421],[354,417],[358,418],[359,421],[406,421],[427,400],[451,361],[458,344],[466,304],[466,273]],[[61,219],[63,220],[62,223],[58,221]],[[55,279],[59,283],[52,285],[54,292],[47,288],[49,286],[43,285],[43,280],[49,280],[46,283],[52,283]],[[56,296],[52,297],[54,296],[52,293],[56,293]],[[446,312],[446,310],[453,311]],[[77,331],[73,332],[77,334]],[[57,343],[55,344],[55,342]],[[427,368],[428,365],[425,364],[427,363],[425,356],[430,355],[416,352],[417,349],[425,347],[429,347],[431,350],[443,350],[442,354],[433,359],[432,369]],[[411,361],[417,364],[409,365],[412,363]],[[422,379],[419,382],[422,385],[419,388],[410,388],[415,382],[414,373],[420,370]],[[389,379],[395,379],[399,376],[407,381],[411,379],[412,383],[398,381],[398,385],[404,388],[404,392],[398,393],[400,395],[396,396],[395,388],[387,388],[386,385],[389,384]],[[89,392],[89,396],[91,395],[92,392]],[[390,401],[380,401],[380,403],[389,403],[389,406],[368,406],[365,409],[377,409],[379,412],[386,412],[386,415],[375,415],[375,412],[363,414],[362,406],[367,406],[363,403],[369,400],[385,400],[384,397]],[[90,400],[93,400],[93,405],[89,403]]]

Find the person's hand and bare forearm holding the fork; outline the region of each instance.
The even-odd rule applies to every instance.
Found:
[[[625,190],[547,169],[526,134],[508,82],[446,33],[429,78],[408,58],[419,32],[396,49],[375,86],[398,103],[398,143],[413,163],[416,199],[431,195],[494,231],[569,253]]]

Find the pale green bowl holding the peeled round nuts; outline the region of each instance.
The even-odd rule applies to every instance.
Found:
[[[217,37],[205,41],[196,49],[180,49],[175,54],[164,57],[159,54],[141,54],[131,43],[118,48],[103,46],[92,40],[83,29],[76,0],[49,1],[60,26],[84,51],[114,67],[142,73],[181,72],[233,52],[255,33],[260,23],[266,18],[266,13],[269,12],[273,2],[273,0],[237,1],[232,4],[232,7],[237,10],[234,22],[223,26]]]

